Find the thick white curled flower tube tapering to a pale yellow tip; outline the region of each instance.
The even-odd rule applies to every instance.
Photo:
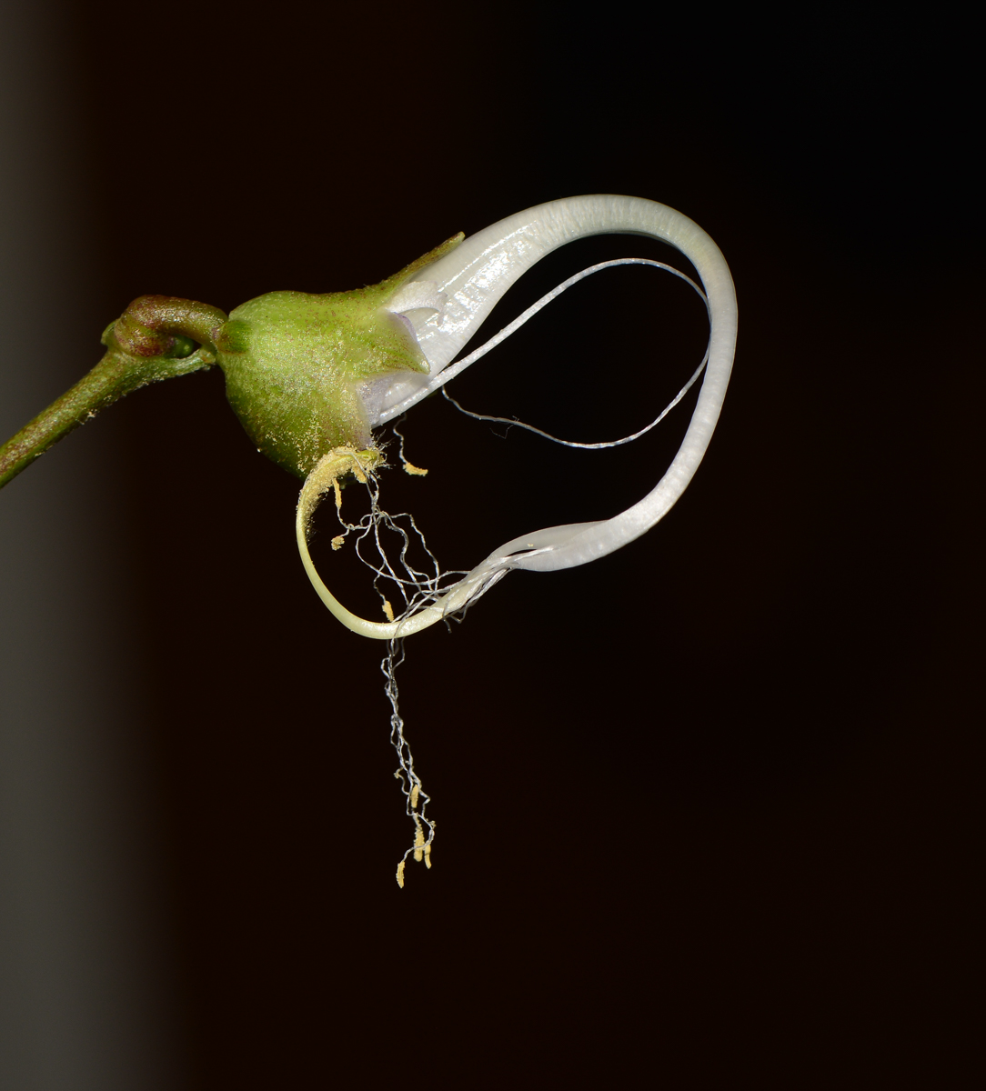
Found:
[[[675,247],[696,267],[708,297],[708,363],[691,421],[670,466],[646,496],[620,515],[515,538],[432,604],[384,623],[346,610],[325,587],[308,552],[306,530],[319,497],[335,488],[342,473],[356,472],[358,477],[371,471],[369,459],[376,459],[373,465],[380,459],[379,452],[330,452],[301,491],[296,520],[298,549],[319,597],[355,633],[384,640],[409,636],[464,609],[511,568],[549,572],[605,556],[653,527],[685,492],[712,439],[729,381],[736,347],[736,291],[726,261],[709,235],[687,216],[655,201],[611,194],[551,201],[494,224],[417,271],[413,287],[418,292],[428,290],[429,307],[408,310],[406,316],[429,373],[383,376],[364,384],[358,395],[371,427],[406,411],[482,355],[483,349],[452,364],[518,277],[567,242],[606,233],[649,236]]]

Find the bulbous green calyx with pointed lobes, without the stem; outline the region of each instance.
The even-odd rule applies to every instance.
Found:
[[[272,291],[230,313],[216,337],[216,358],[229,404],[263,454],[305,478],[335,447],[371,445],[360,384],[428,371],[414,334],[387,303],[462,238],[367,288]]]

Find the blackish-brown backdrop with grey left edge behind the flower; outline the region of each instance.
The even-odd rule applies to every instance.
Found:
[[[8,2],[4,434],[138,295],[356,287],[593,192],[679,208],[725,253],[721,423],[643,539],[408,642],[438,839],[404,890],[383,646],[309,587],[297,482],[221,374],[140,392],[4,490],[9,1086],[962,1086],[970,28],[355,11]],[[621,255],[687,268],[577,243],[494,328]],[[610,271],[454,393],[611,437],[703,341],[678,281]],[[430,473],[389,471],[383,499],[470,567],[638,500],[690,405],[590,454],[431,399],[405,428]],[[328,538],[330,583],[373,609]]]

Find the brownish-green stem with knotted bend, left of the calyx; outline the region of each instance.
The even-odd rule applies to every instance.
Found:
[[[124,395],[215,363],[211,343],[225,319],[216,308],[189,300],[165,296],[134,300],[103,335],[108,351],[96,367],[0,447],[0,489],[62,436]],[[204,343],[194,352],[192,338]]]

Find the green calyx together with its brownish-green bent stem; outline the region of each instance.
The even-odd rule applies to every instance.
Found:
[[[206,303],[141,296],[104,332],[99,363],[0,446],[0,488],[124,395],[214,363],[258,448],[298,477],[333,448],[370,447],[360,384],[428,371],[409,325],[387,304],[462,239],[449,239],[368,288],[322,296],[273,291],[228,319]]]

